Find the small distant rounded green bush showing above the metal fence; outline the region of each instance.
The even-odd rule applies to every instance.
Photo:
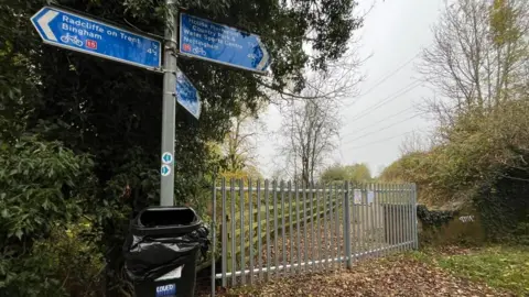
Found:
[[[352,180],[356,183],[366,183],[371,180],[371,173],[367,164],[339,165],[335,164],[327,167],[320,179],[325,183]]]

